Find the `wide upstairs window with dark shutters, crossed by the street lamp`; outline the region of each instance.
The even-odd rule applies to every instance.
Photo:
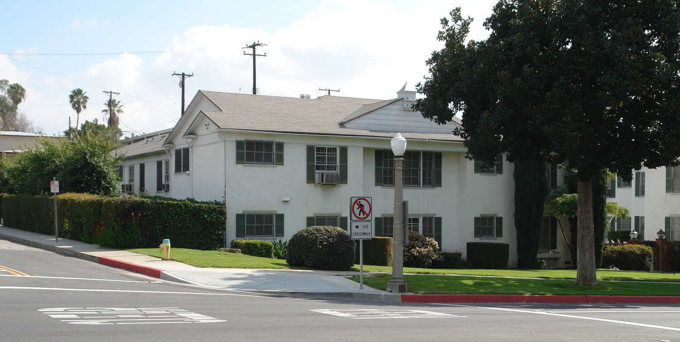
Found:
[[[390,150],[375,151],[375,185],[394,186],[394,154]],[[403,185],[407,188],[440,187],[441,152],[405,152]]]

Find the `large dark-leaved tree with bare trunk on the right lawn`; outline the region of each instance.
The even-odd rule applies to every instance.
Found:
[[[678,165],[680,6],[675,0],[503,0],[466,42],[471,19],[442,19],[426,97],[414,108],[439,124],[462,113],[467,156],[575,160],[577,281],[597,284],[592,179],[602,169]]]

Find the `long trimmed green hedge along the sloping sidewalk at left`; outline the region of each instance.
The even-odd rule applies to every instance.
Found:
[[[107,247],[173,247],[217,250],[224,245],[223,204],[161,201],[92,194],[57,196],[59,236]],[[52,196],[3,196],[5,226],[54,235]]]

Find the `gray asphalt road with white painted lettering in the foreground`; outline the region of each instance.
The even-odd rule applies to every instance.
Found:
[[[680,307],[261,296],[0,240],[0,341],[680,341]]]

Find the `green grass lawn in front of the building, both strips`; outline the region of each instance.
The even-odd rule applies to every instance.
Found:
[[[129,250],[160,258],[160,249],[141,248]],[[170,258],[195,267],[233,269],[304,269],[290,267],[286,260],[258,258],[244,254],[218,251],[186,250],[173,248]],[[355,264],[352,271],[359,271]],[[368,273],[388,273],[371,275]],[[392,267],[364,265],[364,284],[386,289]],[[680,296],[680,273],[636,272],[598,270],[595,288],[575,286],[576,270],[515,270],[515,269],[415,269],[405,267],[409,292],[418,294],[616,294],[616,295],[676,295]],[[538,278],[538,279],[530,279]],[[359,277],[351,278],[359,281]],[[566,280],[564,280],[566,279]],[[651,282],[655,281],[655,282]]]

